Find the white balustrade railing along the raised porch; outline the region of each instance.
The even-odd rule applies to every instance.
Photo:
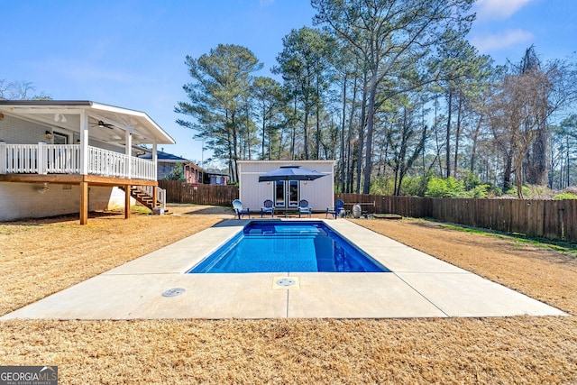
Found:
[[[81,174],[78,144],[6,144],[0,142],[0,174]],[[88,146],[88,174],[156,180],[156,164]]]

